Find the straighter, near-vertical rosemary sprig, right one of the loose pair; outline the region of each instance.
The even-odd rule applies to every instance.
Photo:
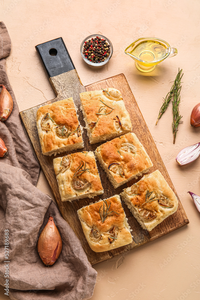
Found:
[[[178,105],[181,101],[181,96],[180,96],[180,92],[181,92],[181,78],[183,76],[183,74],[181,74],[181,71],[179,71],[178,69],[178,78],[175,79],[175,90],[174,90],[174,99],[172,100],[172,110],[173,110],[173,123],[172,123],[172,129],[173,129],[173,135],[174,135],[174,141],[173,143],[175,144],[175,139],[176,139],[176,134],[178,131],[178,124],[181,121],[182,116],[179,114],[179,109],[178,109]]]

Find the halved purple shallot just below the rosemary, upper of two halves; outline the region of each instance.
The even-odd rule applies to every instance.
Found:
[[[195,161],[200,155],[200,143],[182,149],[177,157],[177,163],[182,166]]]

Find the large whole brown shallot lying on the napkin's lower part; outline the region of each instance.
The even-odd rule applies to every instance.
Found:
[[[53,221],[53,217],[49,217],[49,221],[40,234],[37,242],[37,251],[45,265],[53,265],[58,259],[62,250],[62,239],[57,227]]]

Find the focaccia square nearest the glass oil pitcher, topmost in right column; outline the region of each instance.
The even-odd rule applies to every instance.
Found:
[[[106,88],[80,94],[88,137],[91,144],[109,140],[132,130],[129,113],[120,91]]]

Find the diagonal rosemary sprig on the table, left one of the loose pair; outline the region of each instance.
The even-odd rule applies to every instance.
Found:
[[[166,98],[163,98],[165,101],[163,102],[163,105],[160,108],[160,111],[159,111],[159,114],[158,114],[158,119],[156,121],[156,125],[157,125],[158,120],[163,116],[163,113],[166,111],[166,109],[167,109],[167,107],[169,105],[170,100],[173,98],[173,96],[175,96],[175,93],[180,88],[181,78],[183,76],[183,74],[181,75],[181,73],[182,73],[182,69],[181,69],[181,71],[178,69],[178,74],[176,76],[176,79],[175,79],[175,81],[174,81],[174,83],[172,85],[172,88],[171,88],[170,92],[166,95]]]

